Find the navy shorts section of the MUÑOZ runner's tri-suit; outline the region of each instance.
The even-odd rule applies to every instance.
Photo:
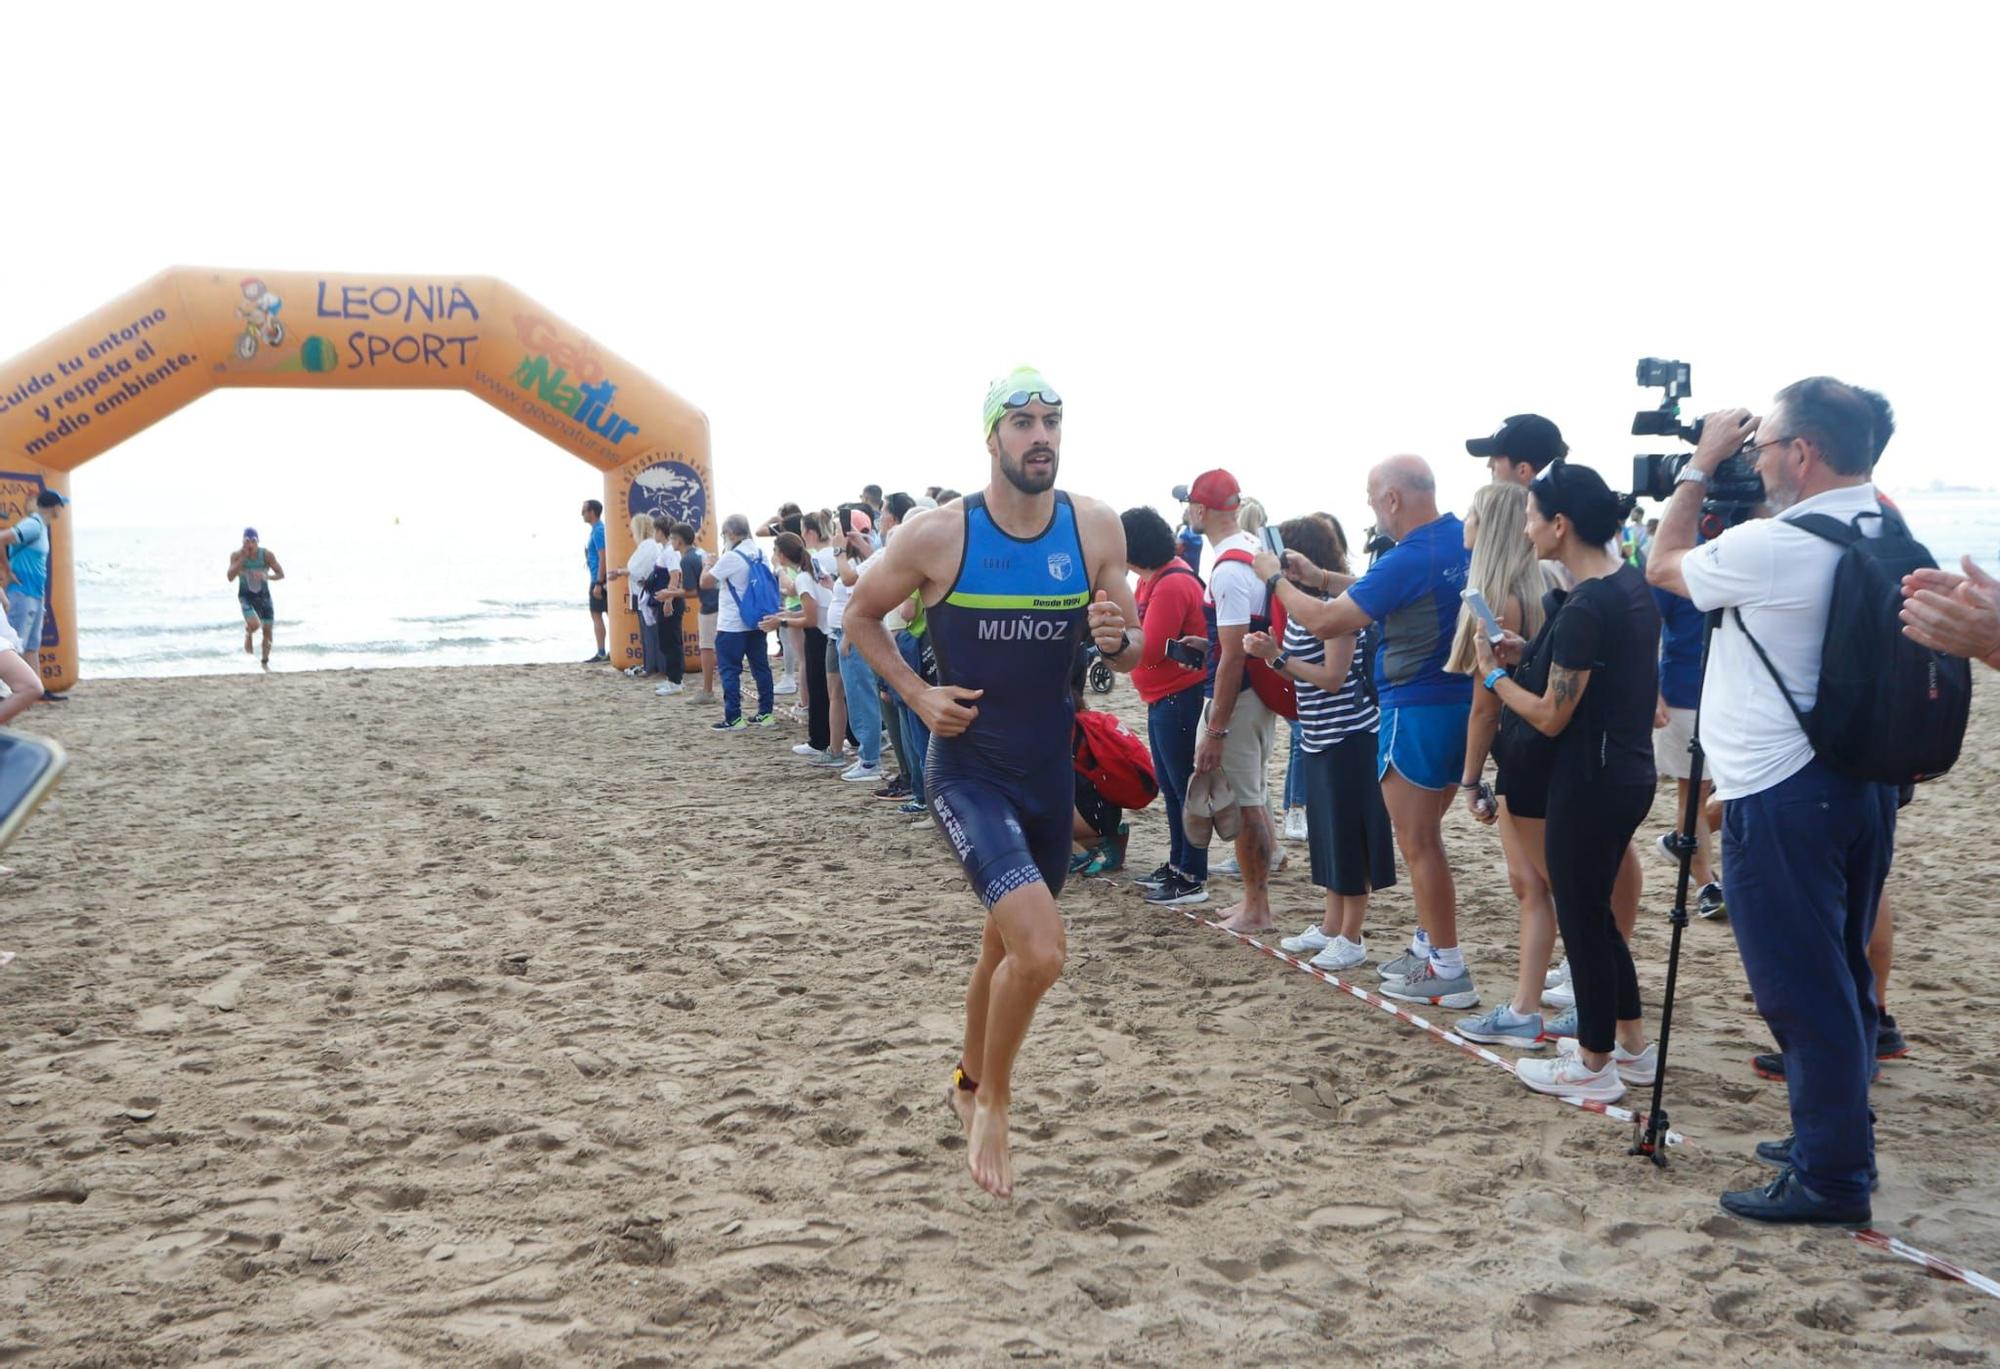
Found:
[[[946,739],[930,741],[924,765],[930,815],[988,911],[1036,881],[1048,885],[1050,897],[1060,895],[1070,873],[1076,771],[1062,753],[1040,769],[1048,775],[1036,775],[1032,783],[974,775]]]

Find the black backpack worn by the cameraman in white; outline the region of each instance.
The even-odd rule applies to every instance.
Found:
[[[1862,518],[1882,518],[1882,536],[1862,532]],[[1794,528],[1842,546],[1834,598],[1820,644],[1820,697],[1800,713],[1792,691],[1750,628],[1736,626],[1778,680],[1814,755],[1842,775],[1880,785],[1938,779],[1958,761],[1972,711],[1972,666],[1902,634],[1902,576],[1936,568],[1930,550],[1888,508],[1840,522],[1826,514],[1790,520]]]

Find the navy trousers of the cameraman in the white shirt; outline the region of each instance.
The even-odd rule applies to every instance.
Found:
[[[1868,969],[1896,851],[1896,791],[1814,761],[1722,815],[1722,891],[1758,1013],[1784,1051],[1792,1167],[1834,1203],[1866,1203],[1874,1169]]]

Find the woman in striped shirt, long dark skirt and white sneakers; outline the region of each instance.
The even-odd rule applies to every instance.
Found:
[[[1346,552],[1328,522],[1294,518],[1280,532],[1312,564],[1348,574]],[[1244,650],[1298,687],[1306,851],[1312,883],[1326,891],[1326,915],[1282,945],[1294,955],[1312,951],[1312,965],[1326,971],[1368,959],[1362,941],[1368,895],[1396,883],[1396,847],[1376,779],[1378,711],[1366,638],[1368,632],[1344,632],[1320,640],[1298,622],[1286,622],[1284,642],[1270,632],[1244,638]]]

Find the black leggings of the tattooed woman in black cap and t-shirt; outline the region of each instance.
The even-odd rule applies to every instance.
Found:
[[[1612,885],[1632,833],[1652,809],[1652,785],[1552,785],[1542,851],[1556,927],[1576,987],[1576,1041],[1610,1051],[1616,1023],[1640,1013],[1632,949],[1612,921]]]

